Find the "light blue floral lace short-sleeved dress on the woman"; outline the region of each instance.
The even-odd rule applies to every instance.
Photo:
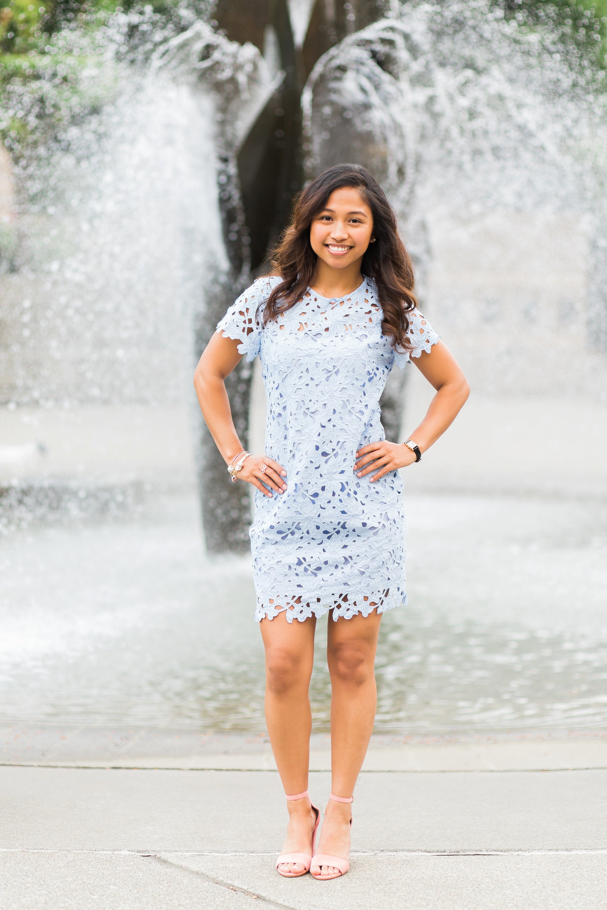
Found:
[[[287,470],[286,493],[255,494],[250,529],[257,611],[288,622],[368,616],[407,602],[402,480],[354,473],[356,451],[383,440],[379,396],[399,354],[381,334],[374,282],[346,298],[308,289],[278,322],[260,323],[279,278],[258,278],[228,309],[218,331],[261,359],[268,397],[266,454]],[[411,355],[439,336],[410,315]]]

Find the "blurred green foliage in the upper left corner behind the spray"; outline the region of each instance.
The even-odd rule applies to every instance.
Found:
[[[122,62],[209,13],[210,0],[0,0],[0,142],[19,162],[63,141],[115,95]]]

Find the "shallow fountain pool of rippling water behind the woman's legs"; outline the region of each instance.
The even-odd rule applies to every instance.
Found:
[[[410,605],[382,621],[376,732],[607,725],[604,504],[418,494],[406,511]],[[16,531],[0,599],[0,720],[265,729],[249,560],[205,557],[194,495]]]

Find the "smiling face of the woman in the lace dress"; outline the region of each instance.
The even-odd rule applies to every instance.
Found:
[[[373,233],[369,206],[354,187],[336,189],[309,228],[312,249],[330,268],[351,268],[364,256]]]

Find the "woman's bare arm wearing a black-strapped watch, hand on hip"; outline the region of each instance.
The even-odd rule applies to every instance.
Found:
[[[432,345],[430,353],[422,351],[420,357],[411,358],[411,363],[415,364],[430,385],[436,389],[436,395],[430,401],[426,416],[420,426],[410,434],[410,438],[417,443],[420,451],[425,452],[458,416],[470,395],[470,386],[457,360],[442,341]],[[415,461],[415,454],[407,446],[386,440],[363,446],[356,456],[354,470],[357,477],[364,477],[377,471],[377,474],[370,478],[371,481],[379,480],[390,470],[405,468]]]

